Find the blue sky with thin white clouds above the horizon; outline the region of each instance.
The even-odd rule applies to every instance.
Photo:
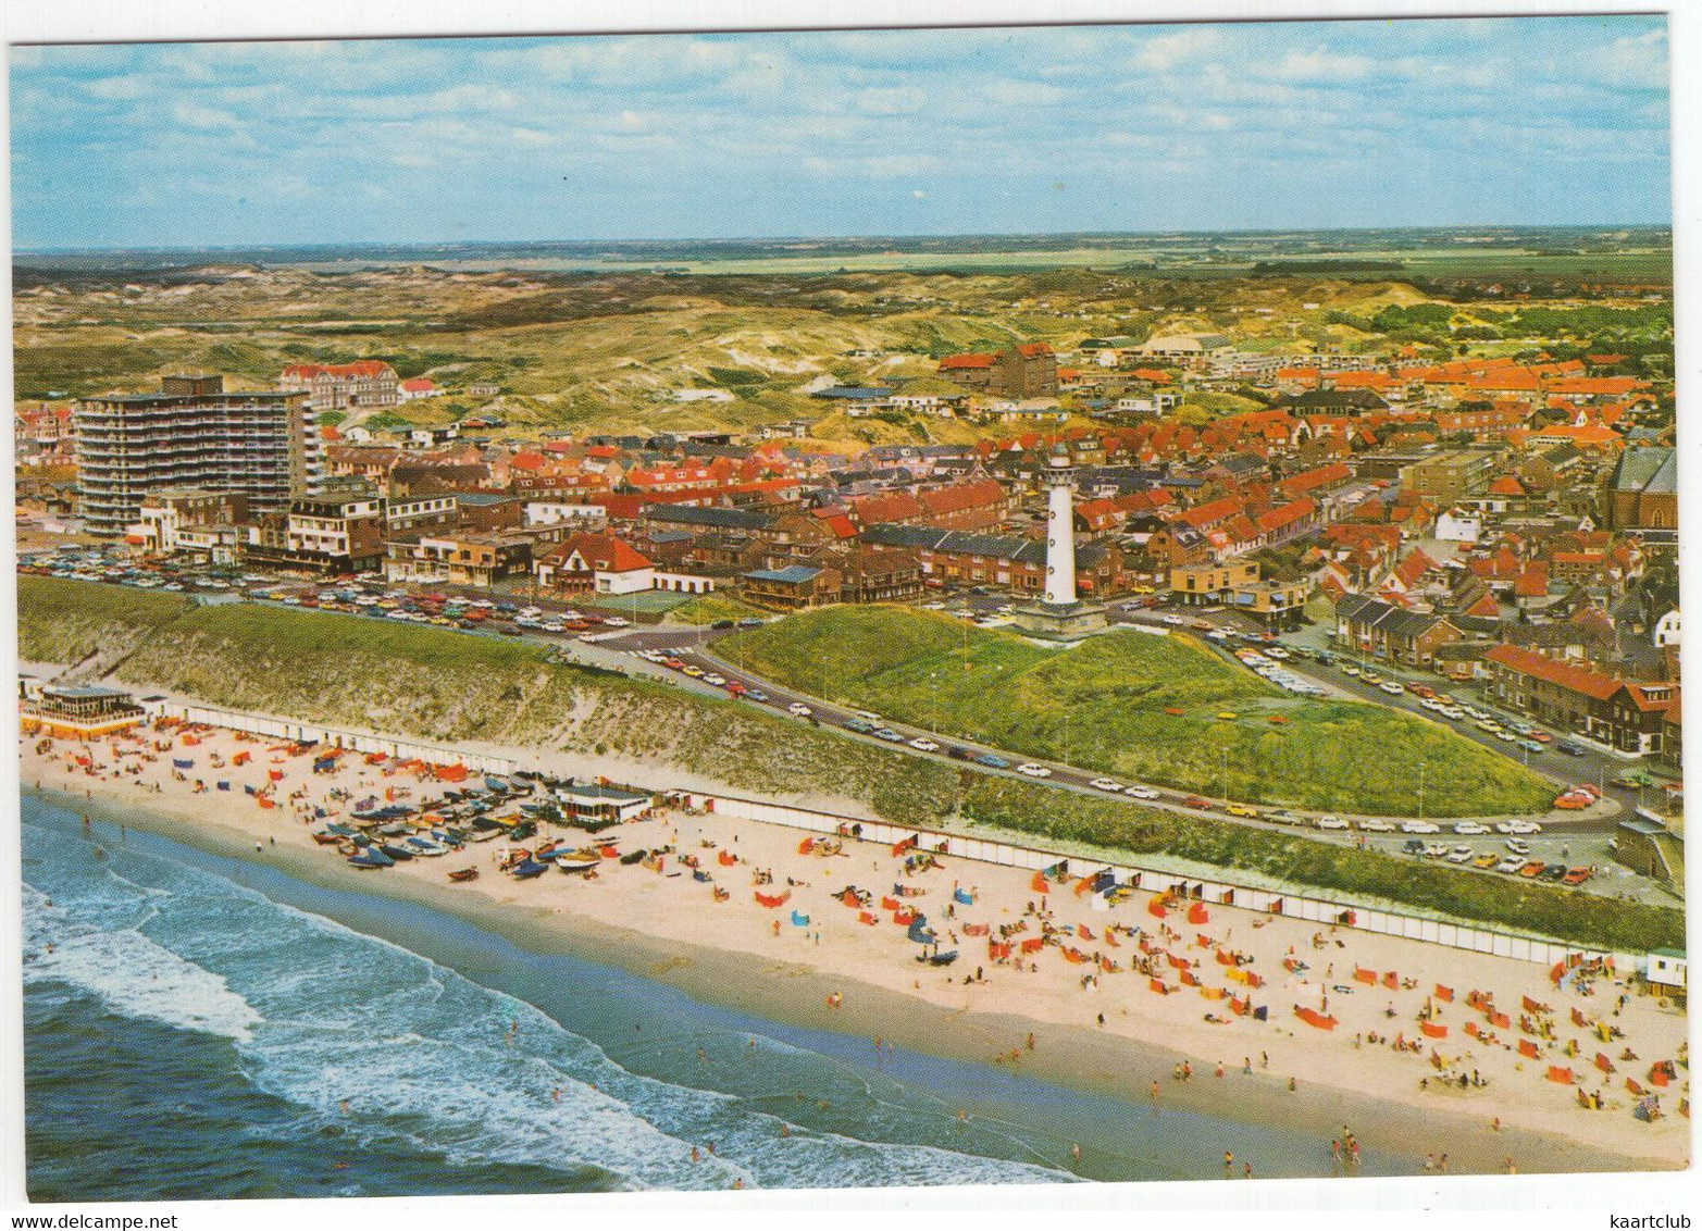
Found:
[[[1666,223],[1661,17],[12,49],[14,243]]]

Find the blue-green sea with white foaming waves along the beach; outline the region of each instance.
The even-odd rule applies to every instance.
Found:
[[[1282,1127],[877,1057],[31,795],[22,855],[32,1200],[1329,1173]]]

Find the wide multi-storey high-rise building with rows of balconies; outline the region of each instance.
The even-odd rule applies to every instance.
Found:
[[[158,393],[83,398],[73,414],[77,507],[89,533],[123,535],[165,487],[247,497],[284,512],[318,478],[303,393],[226,393],[223,376],[165,376]]]

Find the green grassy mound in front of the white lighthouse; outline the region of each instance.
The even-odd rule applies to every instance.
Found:
[[[793,616],[720,652],[905,722],[1229,799],[1409,816],[1419,764],[1433,816],[1532,810],[1554,793],[1433,722],[1299,700],[1188,637],[1113,633],[1057,650],[877,606]]]

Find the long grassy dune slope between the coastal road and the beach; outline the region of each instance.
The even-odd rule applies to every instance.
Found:
[[[1057,841],[1166,853],[1629,952],[1683,943],[1678,911],[1462,877],[899,756],[735,701],[551,666],[541,649],[517,642],[248,604],[189,608],[170,596],[19,579],[22,657],[80,659],[114,642],[134,650],[121,679],[213,705],[422,739],[616,753],[654,763],[659,780],[672,766],[754,793],[807,783],[866,800],[894,821],[963,827],[972,819]]]

